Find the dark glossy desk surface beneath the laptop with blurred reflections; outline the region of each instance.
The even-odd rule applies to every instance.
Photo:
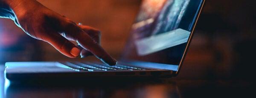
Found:
[[[145,80],[90,82],[83,85],[5,86],[0,66],[0,97],[4,98],[193,98],[253,97],[253,82],[230,80]]]

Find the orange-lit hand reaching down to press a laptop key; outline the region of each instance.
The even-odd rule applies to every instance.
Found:
[[[77,25],[72,20],[50,9],[36,0],[14,0],[10,7],[16,15],[20,28],[26,34],[51,44],[62,54],[76,58],[95,55],[107,63],[115,65],[113,59],[100,45],[100,32],[90,26]],[[76,41],[80,49],[69,40]]]

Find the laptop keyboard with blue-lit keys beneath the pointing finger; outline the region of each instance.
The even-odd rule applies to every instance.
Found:
[[[148,68],[140,68],[135,66],[127,66],[127,65],[121,65],[116,64],[115,66],[108,66],[105,63],[100,62],[58,62],[61,63],[64,66],[67,66],[70,69],[73,69],[75,71],[118,71],[118,70],[154,70],[154,69],[148,69]]]

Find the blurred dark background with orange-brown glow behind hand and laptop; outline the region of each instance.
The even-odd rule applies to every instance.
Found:
[[[102,32],[102,47],[122,53],[141,0],[38,0],[76,23]],[[172,79],[253,79],[256,55],[256,1],[207,0],[180,74]],[[0,64],[7,61],[80,61],[26,35],[0,18]],[[253,67],[253,68],[252,68]]]

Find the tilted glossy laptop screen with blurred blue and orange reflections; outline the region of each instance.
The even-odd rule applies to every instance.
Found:
[[[203,0],[143,0],[122,60],[179,65]]]

